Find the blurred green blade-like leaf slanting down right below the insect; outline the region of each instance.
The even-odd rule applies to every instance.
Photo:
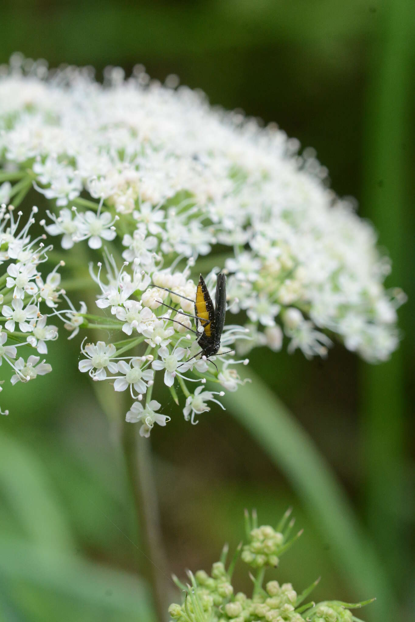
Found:
[[[229,412],[281,469],[330,542],[339,572],[358,594],[378,596],[378,620],[391,620],[394,596],[385,568],[330,465],[294,415],[261,378],[223,398]],[[318,569],[316,569],[318,570]],[[396,610],[396,609],[395,609]]]

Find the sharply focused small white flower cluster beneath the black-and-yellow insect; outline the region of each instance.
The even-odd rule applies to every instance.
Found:
[[[132,266],[126,261],[118,271],[113,256],[105,253],[104,259],[105,281],[101,277],[101,262],[98,274],[90,264],[91,278],[101,289],[96,304],[100,309],[110,311],[110,317],[107,315],[105,318],[106,328],[113,332],[120,331],[124,336],[122,340],[109,344],[105,341],[87,343],[85,347],[82,344],[85,358],[80,360],[80,371],[88,372],[95,381],[113,381],[115,391],[129,390],[134,402],[126,414],[126,420],[141,422],[142,436],[148,437],[154,424],[166,425],[170,420],[167,415],[156,412],[161,404],[151,399],[154,373],[157,371],[162,371],[164,384],[177,403],[175,384],[179,384],[185,396],[184,417],[197,423],[197,415],[210,410],[208,402],[221,406],[215,395],[223,396],[223,391],[202,390],[207,380],[230,391],[236,391],[238,384],[243,384],[235,365],[246,364],[248,360],[223,360],[221,356],[222,353],[233,353],[228,346],[236,337],[243,337],[243,329],[235,325],[226,326],[221,335],[221,358],[200,358],[199,335],[192,328],[192,301],[195,300],[196,285],[189,279],[189,267],[182,272],[172,272],[171,269],[160,271],[154,266],[152,258],[146,272],[136,258]],[[207,277],[207,284],[212,286],[215,279],[212,272]],[[102,327],[99,317],[86,313],[83,318],[88,322],[88,328]],[[136,348],[141,348],[141,355],[124,354]],[[192,382],[200,383],[194,392],[187,387],[187,383]],[[144,396],[145,407],[141,404]]]

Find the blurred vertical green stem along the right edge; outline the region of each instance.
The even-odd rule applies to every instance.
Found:
[[[365,136],[364,215],[375,222],[380,244],[388,248],[393,271],[388,285],[400,285],[409,294],[413,288],[411,258],[412,169],[410,147],[411,83],[413,78],[413,0],[386,2],[380,32],[373,48],[371,84]],[[371,533],[390,577],[401,587],[409,577],[410,554],[406,544],[406,513],[409,490],[405,490],[406,433],[404,413],[404,356],[411,350],[412,318],[405,305],[399,325],[406,333],[388,363],[365,365],[361,387],[365,437],[366,481],[362,495]],[[410,355],[409,355],[410,356]],[[408,486],[409,489],[409,486]]]

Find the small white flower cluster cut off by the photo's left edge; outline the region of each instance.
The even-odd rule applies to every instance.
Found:
[[[57,272],[63,261],[45,278],[40,272],[42,264],[48,262],[47,253],[52,246],[45,246],[45,234],[30,237],[37,211],[34,207],[21,226],[21,211],[16,217],[12,205],[6,207],[3,203],[0,207],[0,322],[4,322],[0,326],[0,366],[5,361],[12,368],[12,384],[26,383],[52,371],[45,360],[39,362],[40,356],[17,358],[17,348],[28,346],[40,355],[47,354],[46,342],[58,338],[58,329],[48,318],[54,315],[59,296],[65,296]]]

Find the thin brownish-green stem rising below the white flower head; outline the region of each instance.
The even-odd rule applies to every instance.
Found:
[[[151,398],[147,389],[147,402]],[[147,580],[152,587],[152,598],[158,622],[167,619],[167,560],[164,554],[159,519],[159,504],[152,467],[151,442],[139,435],[140,424],[123,425],[123,448],[128,478],[133,491],[139,519],[141,549],[147,557]]]

